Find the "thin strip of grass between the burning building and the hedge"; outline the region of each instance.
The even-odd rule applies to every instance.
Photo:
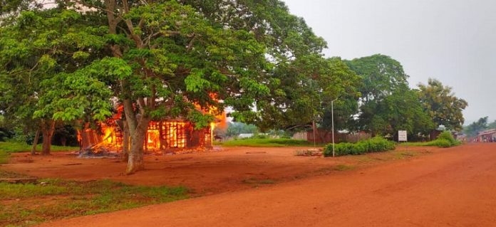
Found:
[[[299,139],[234,139],[219,143],[224,147],[306,147],[311,143]]]

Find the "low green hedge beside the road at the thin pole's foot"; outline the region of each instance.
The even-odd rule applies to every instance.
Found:
[[[336,156],[359,155],[371,152],[384,152],[395,148],[395,144],[383,137],[373,137],[372,139],[362,140],[356,144],[340,143],[335,144],[334,152]],[[324,149],[324,156],[332,156],[332,144],[328,144]]]

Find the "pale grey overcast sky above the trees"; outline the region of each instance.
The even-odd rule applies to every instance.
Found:
[[[382,53],[410,86],[438,78],[469,103],[465,123],[496,120],[495,0],[284,0],[326,39],[326,56]]]

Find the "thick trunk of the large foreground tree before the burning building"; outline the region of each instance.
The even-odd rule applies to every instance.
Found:
[[[149,120],[145,117],[141,117],[138,123],[138,127],[131,134],[130,140],[130,150],[128,157],[128,169],[126,169],[126,174],[133,174],[136,171],[144,169],[143,164],[143,144],[145,143],[146,131],[148,130]]]

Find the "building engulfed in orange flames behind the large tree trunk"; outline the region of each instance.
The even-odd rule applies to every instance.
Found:
[[[122,110],[111,119],[100,124],[100,129],[86,128],[78,132],[81,150],[91,149],[93,152],[122,152],[123,121]],[[186,120],[153,121],[148,125],[145,152],[171,152],[182,149],[212,149],[215,127],[223,127],[225,114],[217,116],[217,122],[210,127],[195,129],[192,122]]]

